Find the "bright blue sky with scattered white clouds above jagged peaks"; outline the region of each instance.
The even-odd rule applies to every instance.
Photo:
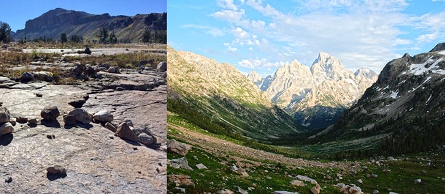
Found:
[[[324,51],[349,70],[445,42],[445,0],[168,1],[168,44],[262,76]]]

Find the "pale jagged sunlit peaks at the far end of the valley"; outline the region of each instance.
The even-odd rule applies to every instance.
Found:
[[[262,90],[301,124],[323,128],[338,120],[376,79],[372,70],[353,73],[337,57],[322,52],[311,68],[296,60],[279,68]]]

